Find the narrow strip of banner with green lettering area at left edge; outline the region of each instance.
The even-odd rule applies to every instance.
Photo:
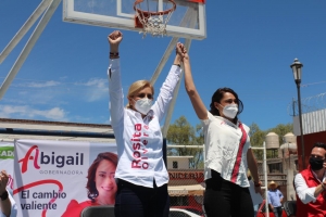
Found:
[[[13,163],[14,163],[14,143],[0,142],[0,170],[5,170],[9,175],[7,188],[13,190]]]

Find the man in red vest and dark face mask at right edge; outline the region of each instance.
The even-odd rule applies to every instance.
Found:
[[[311,150],[306,169],[297,174],[297,217],[326,216],[326,144],[317,142]]]

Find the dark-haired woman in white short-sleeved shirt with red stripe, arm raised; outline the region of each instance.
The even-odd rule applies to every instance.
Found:
[[[238,119],[243,104],[230,88],[217,89],[210,112],[196,90],[189,55],[184,49],[185,87],[204,132],[204,209],[209,217],[252,217],[248,167],[261,192],[258,166],[251,151],[249,128]]]

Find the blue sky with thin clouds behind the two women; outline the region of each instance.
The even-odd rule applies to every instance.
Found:
[[[0,51],[40,0],[0,1]],[[266,130],[292,123],[288,113],[297,99],[290,64],[303,63],[302,98],[326,92],[326,1],[206,0],[208,38],[192,40],[192,74],[209,106],[218,87],[230,87],[244,104],[240,119]],[[34,29],[34,28],[33,28]],[[32,29],[32,30],[33,30]],[[32,34],[0,64],[0,82]],[[112,28],[62,21],[62,3],[0,101],[0,117],[108,124],[106,36]],[[122,79],[125,92],[138,79],[150,79],[171,37],[142,39],[123,30]],[[183,40],[181,40],[183,41]],[[155,84],[159,91],[173,55]],[[309,85],[312,84],[312,85]],[[172,123],[185,115],[199,124],[184,81]]]

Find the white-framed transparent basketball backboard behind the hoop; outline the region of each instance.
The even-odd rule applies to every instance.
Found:
[[[167,25],[166,35],[189,39],[206,37],[204,0],[174,0],[176,10]],[[141,31],[135,27],[135,0],[64,0],[63,21]],[[143,0],[143,11],[165,11],[172,4],[167,0]]]

